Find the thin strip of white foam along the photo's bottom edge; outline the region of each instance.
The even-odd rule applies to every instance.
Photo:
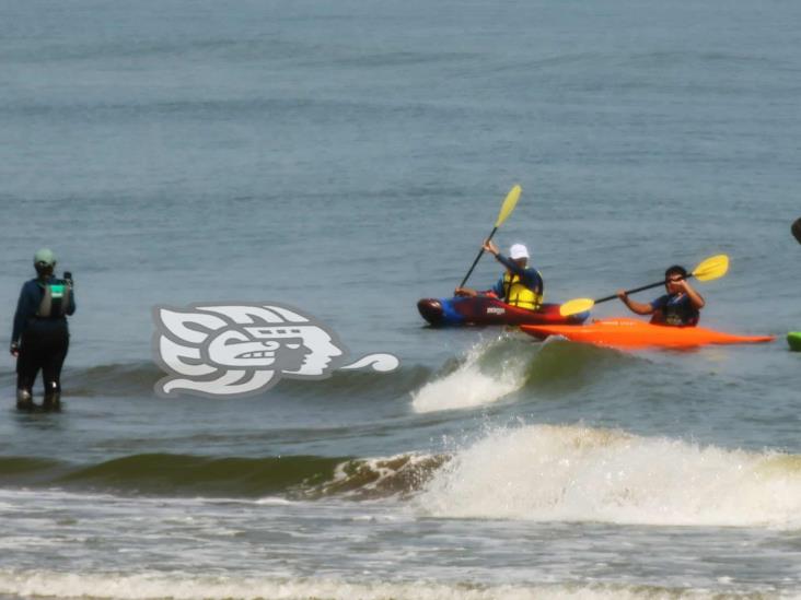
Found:
[[[57,598],[144,600],[172,598],[231,600],[581,600],[706,599],[705,590],[647,586],[542,585],[476,586],[434,581],[360,581],[316,578],[191,576],[148,573],[70,574],[43,570],[0,570],[0,595]],[[732,596],[730,596],[732,597]]]

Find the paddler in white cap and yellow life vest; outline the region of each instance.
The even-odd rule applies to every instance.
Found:
[[[507,272],[491,290],[483,294],[498,297],[511,306],[537,310],[543,304],[545,285],[539,272],[527,266],[529,249],[523,244],[513,244],[509,248],[509,257],[506,257],[489,239],[484,243],[484,249],[503,264]],[[456,287],[454,295],[477,296],[479,293],[469,287]]]

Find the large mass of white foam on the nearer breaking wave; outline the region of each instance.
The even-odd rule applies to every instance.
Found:
[[[801,527],[801,456],[582,426],[497,431],[416,498],[441,517]]]

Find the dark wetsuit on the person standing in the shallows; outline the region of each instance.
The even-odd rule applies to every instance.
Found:
[[[31,404],[33,386],[42,369],[45,407],[57,408],[61,392],[61,366],[69,349],[69,329],[66,315],[76,311],[71,285],[66,302],[47,303],[49,314],[43,315],[43,299],[48,284],[65,284],[55,278],[34,279],[22,286],[14,315],[12,342],[20,346],[16,360],[18,407]]]

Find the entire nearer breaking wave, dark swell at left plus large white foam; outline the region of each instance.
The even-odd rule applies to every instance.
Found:
[[[4,487],[153,496],[395,498],[423,517],[801,527],[801,455],[580,425],[495,430],[452,452],[353,458],[0,459]]]

